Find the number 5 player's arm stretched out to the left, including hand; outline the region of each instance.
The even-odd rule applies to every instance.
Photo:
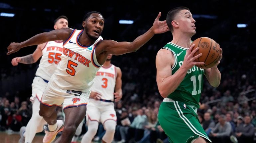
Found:
[[[61,28],[61,29],[52,30],[50,32],[37,34],[21,43],[11,43],[7,47],[7,50],[8,50],[7,55],[15,53],[19,51],[20,48],[27,47],[27,46],[40,45],[48,41],[55,41],[55,40],[64,41],[68,38],[71,32],[72,32],[72,29],[70,28]]]

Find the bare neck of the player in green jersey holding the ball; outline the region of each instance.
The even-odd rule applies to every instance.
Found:
[[[171,42],[184,48],[189,48],[192,43],[191,37],[188,37],[187,35],[178,34],[173,34],[173,40]]]

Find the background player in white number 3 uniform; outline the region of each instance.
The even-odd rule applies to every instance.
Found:
[[[102,142],[111,143],[114,138],[116,112],[113,102],[122,98],[122,72],[120,68],[110,63],[111,58],[112,54],[109,54],[106,62],[94,78],[86,111],[88,130],[81,143],[91,143],[97,132],[99,122],[103,124],[106,130]]]

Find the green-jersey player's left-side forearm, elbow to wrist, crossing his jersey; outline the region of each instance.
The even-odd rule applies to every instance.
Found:
[[[159,92],[162,97],[166,98],[181,84],[188,70],[181,66],[173,75],[165,78],[159,86]]]

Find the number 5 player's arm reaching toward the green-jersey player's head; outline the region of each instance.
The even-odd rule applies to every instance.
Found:
[[[170,30],[166,24],[166,21],[159,21],[160,16],[161,12],[159,12],[153,26],[147,32],[137,37],[133,42],[116,42],[113,40],[103,40],[101,42],[104,49],[102,52],[106,51],[107,54],[113,55],[122,55],[125,53],[136,52],[141,46],[147,43],[149,39],[154,36],[154,34],[164,33]]]

